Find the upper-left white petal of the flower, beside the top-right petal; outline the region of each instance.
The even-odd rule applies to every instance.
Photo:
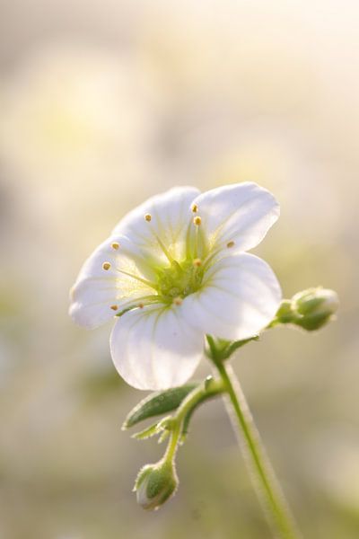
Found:
[[[141,252],[168,262],[161,242],[173,259],[182,260],[192,218],[191,202],[198,193],[194,187],[176,187],[154,196],[124,216],[113,234],[126,235]]]

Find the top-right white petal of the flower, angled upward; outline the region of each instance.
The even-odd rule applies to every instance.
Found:
[[[243,182],[206,191],[194,200],[211,251],[252,249],[279,216],[273,195],[256,183]]]

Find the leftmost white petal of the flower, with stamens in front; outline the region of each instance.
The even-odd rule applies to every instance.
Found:
[[[92,252],[71,289],[69,314],[95,328],[121,309],[153,295],[153,278],[143,256],[125,236],[112,236]]]

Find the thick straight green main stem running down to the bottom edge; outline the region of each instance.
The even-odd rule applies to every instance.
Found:
[[[267,458],[245,396],[241,391],[241,385],[230,366],[226,366],[221,359],[215,356],[212,359],[223,380],[225,392],[232,403],[236,417],[233,418],[231,412],[230,416],[235,427],[240,428],[243,453],[250,468],[258,498],[266,509],[274,534],[282,539],[299,539],[299,532],[296,530],[290,509]]]

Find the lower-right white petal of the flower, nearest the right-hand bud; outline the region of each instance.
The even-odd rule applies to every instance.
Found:
[[[257,256],[227,256],[206,272],[180,309],[193,327],[226,340],[247,339],[273,319],[282,298],[276,276]]]

